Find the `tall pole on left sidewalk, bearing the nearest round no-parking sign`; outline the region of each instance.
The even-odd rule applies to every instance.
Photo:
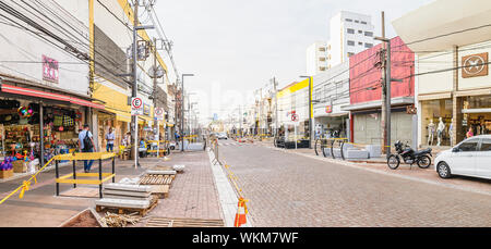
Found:
[[[140,1],[134,1],[134,22],[133,22],[133,89],[131,91],[132,97],[137,96],[137,48],[136,48],[136,41],[137,41],[137,30],[136,27],[139,26],[139,4]],[[136,169],[139,166],[139,147],[137,147],[137,140],[139,140],[139,117],[136,115],[131,116],[131,122],[133,123],[133,151],[134,151],[134,167]]]

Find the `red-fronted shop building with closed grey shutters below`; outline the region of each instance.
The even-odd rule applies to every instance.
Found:
[[[415,54],[399,37],[391,39],[391,145],[400,140],[416,146],[417,115],[415,104]],[[342,110],[350,111],[350,140],[356,144],[382,145],[382,70],[375,65],[382,45],[349,58],[349,104]]]

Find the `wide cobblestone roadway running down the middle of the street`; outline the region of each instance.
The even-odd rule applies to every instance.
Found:
[[[220,141],[223,144],[223,141]],[[284,152],[219,147],[255,226],[490,226],[491,197]]]

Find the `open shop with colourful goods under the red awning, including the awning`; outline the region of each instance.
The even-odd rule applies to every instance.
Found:
[[[41,165],[56,154],[77,150],[87,110],[101,104],[43,87],[3,78],[0,91],[2,157]],[[40,132],[43,127],[43,133]]]

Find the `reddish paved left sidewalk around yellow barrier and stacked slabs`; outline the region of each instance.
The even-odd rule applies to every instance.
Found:
[[[178,174],[169,191],[169,198],[159,199],[158,206],[146,216],[166,217],[200,217],[221,219],[221,211],[217,198],[217,191],[213,182],[213,174],[206,152],[173,152],[169,161],[156,158],[144,158],[140,160],[141,166],[134,169],[133,161],[116,161],[116,182],[124,177],[135,177],[146,169],[155,165],[185,165],[185,171]],[[110,162],[103,164],[108,171]],[[97,171],[94,163],[93,172]],[[71,173],[72,167],[60,169],[60,174]],[[82,163],[77,164],[77,171],[82,171]],[[19,187],[27,178],[13,179],[0,184],[0,196],[7,196],[11,190]],[[69,184],[60,185],[60,192],[71,189]],[[97,187],[84,185],[82,187]],[[55,196],[55,171],[39,174],[38,183],[26,191],[24,199],[14,195],[4,203],[0,204],[0,226],[34,226],[53,227],[75,215],[80,211],[94,208],[96,198],[74,198]],[[103,214],[103,213],[101,213]],[[144,226],[143,219],[137,226]]]

